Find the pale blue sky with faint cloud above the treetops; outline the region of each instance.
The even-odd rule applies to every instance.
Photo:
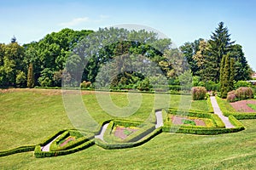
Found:
[[[243,47],[256,71],[256,1],[254,0],[0,0],[0,42],[15,35],[20,44],[52,31],[98,30],[119,24],[150,26],[177,46],[209,39],[220,21]]]

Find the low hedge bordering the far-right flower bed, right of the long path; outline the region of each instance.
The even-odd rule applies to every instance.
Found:
[[[237,112],[227,101],[216,97],[218,106],[223,112],[224,116],[233,115],[236,119],[256,119],[256,112]]]

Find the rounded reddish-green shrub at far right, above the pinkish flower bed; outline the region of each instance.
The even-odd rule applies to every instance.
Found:
[[[227,100],[234,102],[242,99],[253,99],[253,89],[241,87],[228,93]]]

